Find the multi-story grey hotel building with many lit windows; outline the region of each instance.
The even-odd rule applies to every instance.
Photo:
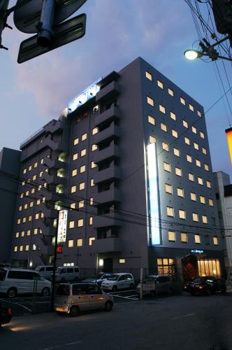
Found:
[[[224,272],[203,107],[138,58],[21,145],[12,259],[184,276]]]

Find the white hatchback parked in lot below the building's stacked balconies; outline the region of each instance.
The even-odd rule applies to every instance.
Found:
[[[117,292],[119,289],[134,288],[135,283],[132,274],[112,274],[109,279],[105,279],[101,283],[101,288]]]

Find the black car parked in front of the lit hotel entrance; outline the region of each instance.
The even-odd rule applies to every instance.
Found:
[[[191,281],[189,286],[191,295],[197,293],[210,295],[215,292],[226,293],[226,282],[224,279],[216,279],[213,276],[198,277]]]

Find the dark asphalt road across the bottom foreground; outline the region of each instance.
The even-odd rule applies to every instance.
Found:
[[[118,298],[121,299],[121,298]],[[4,350],[232,350],[232,294],[116,302],[76,318],[55,313],[13,318]]]

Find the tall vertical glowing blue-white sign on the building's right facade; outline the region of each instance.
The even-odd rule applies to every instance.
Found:
[[[147,146],[147,185],[149,190],[148,208],[149,208],[149,232],[152,245],[160,244],[159,230],[159,188],[157,172],[157,144]]]

